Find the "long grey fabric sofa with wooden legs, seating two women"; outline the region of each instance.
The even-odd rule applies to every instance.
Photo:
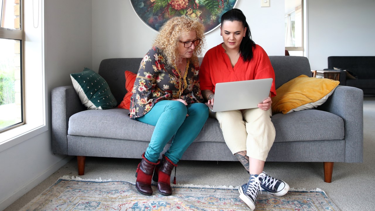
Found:
[[[126,93],[124,71],[137,72],[141,60],[102,60],[99,74],[118,104]],[[301,74],[311,75],[306,57],[270,56],[270,60],[276,88]],[[79,175],[84,174],[86,156],[141,158],[154,127],[130,119],[128,112],[118,108],[86,110],[73,86],[56,87],[52,90],[53,152],[77,155]],[[332,179],[334,162],[362,162],[363,92],[358,88],[338,86],[317,109],[278,113],[272,122],[276,139],[267,161],[324,162],[326,182]],[[212,118],[207,119],[182,160],[237,161],[224,142],[219,123]]]

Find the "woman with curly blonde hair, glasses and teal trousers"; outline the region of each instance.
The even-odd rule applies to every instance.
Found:
[[[208,118],[198,78],[203,41],[201,23],[187,17],[171,18],[139,65],[129,116],[155,126],[136,170],[135,187],[144,195],[153,193],[151,178],[157,182],[160,194],[172,194],[172,169]],[[159,161],[172,137],[171,146]]]

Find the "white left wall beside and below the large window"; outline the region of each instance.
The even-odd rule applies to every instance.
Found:
[[[44,17],[49,130],[0,152],[0,210],[71,158],[52,154],[51,90],[71,85],[70,73],[92,65],[92,2],[48,0],[44,2]]]

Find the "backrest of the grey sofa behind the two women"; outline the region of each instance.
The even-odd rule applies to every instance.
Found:
[[[126,94],[125,71],[137,73],[141,61],[142,58],[117,58],[104,59],[100,63],[98,73],[107,81],[118,104]],[[306,57],[270,56],[270,61],[275,70],[276,89],[299,75],[311,77],[310,64]]]

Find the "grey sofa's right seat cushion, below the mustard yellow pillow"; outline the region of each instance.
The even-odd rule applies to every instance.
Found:
[[[341,140],[344,121],[341,117],[317,109],[272,116],[276,130],[275,142]]]

